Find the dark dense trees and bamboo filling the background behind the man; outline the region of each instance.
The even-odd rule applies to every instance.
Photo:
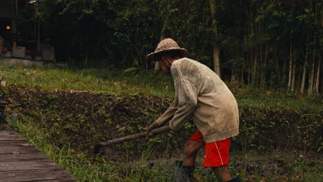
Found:
[[[323,90],[322,1],[39,0],[23,13],[25,25],[41,20],[43,39],[71,65],[151,69],[146,55],[170,37],[211,68],[219,56],[226,80]]]

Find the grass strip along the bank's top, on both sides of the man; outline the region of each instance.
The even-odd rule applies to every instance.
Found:
[[[174,97],[173,79],[161,72],[119,69],[23,68],[0,65],[0,76],[9,85],[39,89],[90,90],[141,93]],[[251,88],[228,83],[239,106],[322,112],[322,96],[302,97],[297,92]]]

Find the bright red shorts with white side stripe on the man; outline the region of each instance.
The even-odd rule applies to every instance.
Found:
[[[201,132],[199,132],[199,130],[190,136],[190,141],[199,141],[205,143],[203,135]],[[203,167],[218,167],[228,164],[230,145],[231,138],[224,139],[222,141],[205,143]]]

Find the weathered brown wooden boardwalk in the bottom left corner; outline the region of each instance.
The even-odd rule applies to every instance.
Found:
[[[0,123],[0,182],[2,181],[77,180],[8,125]]]

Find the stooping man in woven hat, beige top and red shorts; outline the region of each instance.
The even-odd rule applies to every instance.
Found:
[[[186,58],[187,54],[173,39],[162,40],[155,52],[148,54],[148,59],[158,61],[163,72],[172,74],[175,99],[147,128],[147,136],[152,137],[150,131],[166,121],[176,132],[192,117],[197,131],[185,143],[183,160],[177,161],[175,181],[193,181],[195,159],[203,146],[205,168],[212,168],[219,181],[239,181],[228,171],[231,137],[239,134],[237,101],[215,72]]]

